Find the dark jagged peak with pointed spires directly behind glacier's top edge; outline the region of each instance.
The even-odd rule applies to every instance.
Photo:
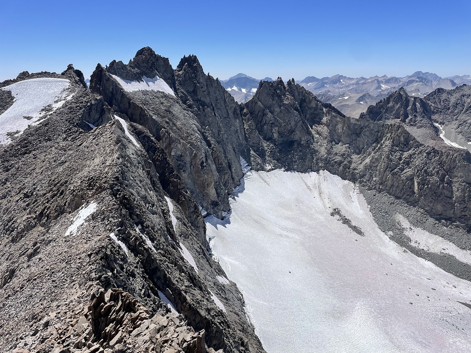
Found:
[[[243,110],[248,144],[255,154],[252,164],[257,166],[259,161],[260,169],[311,168],[316,152],[311,126],[321,123],[325,111],[343,117],[294,84],[294,80],[286,86],[281,78],[260,82],[257,93]]]

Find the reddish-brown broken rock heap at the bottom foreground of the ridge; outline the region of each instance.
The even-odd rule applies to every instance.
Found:
[[[72,312],[82,313],[81,308]],[[174,313],[150,315],[129,293],[103,288],[92,290],[86,312],[64,323],[61,311],[46,316],[24,338],[14,353],[51,351],[53,353],[108,353],[108,352],[206,352],[205,331],[194,332]],[[71,317],[69,319],[69,317]],[[40,333],[41,332],[41,333]],[[48,350],[47,347],[53,347]],[[214,352],[209,349],[209,352]]]

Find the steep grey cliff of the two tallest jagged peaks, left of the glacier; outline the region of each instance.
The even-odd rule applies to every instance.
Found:
[[[204,74],[196,57],[182,59],[174,72],[168,59],[149,50],[139,51],[129,65],[98,65],[90,89],[103,95],[116,112],[145,126],[196,202],[221,218],[222,211],[229,210],[227,195],[242,178],[239,158],[248,155],[239,107]],[[152,65],[143,64],[149,60]],[[126,91],[116,80],[139,82],[146,75],[164,79],[172,94]]]

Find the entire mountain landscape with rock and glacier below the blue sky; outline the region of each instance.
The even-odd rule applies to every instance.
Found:
[[[0,83],[0,347],[471,349],[471,91],[420,75],[220,82],[145,47],[88,84],[72,64]],[[354,118],[306,85],[378,93]]]

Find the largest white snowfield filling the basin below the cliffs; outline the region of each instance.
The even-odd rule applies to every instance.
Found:
[[[390,240],[354,184],[248,171],[235,195],[207,236],[267,352],[471,351],[471,284]]]

